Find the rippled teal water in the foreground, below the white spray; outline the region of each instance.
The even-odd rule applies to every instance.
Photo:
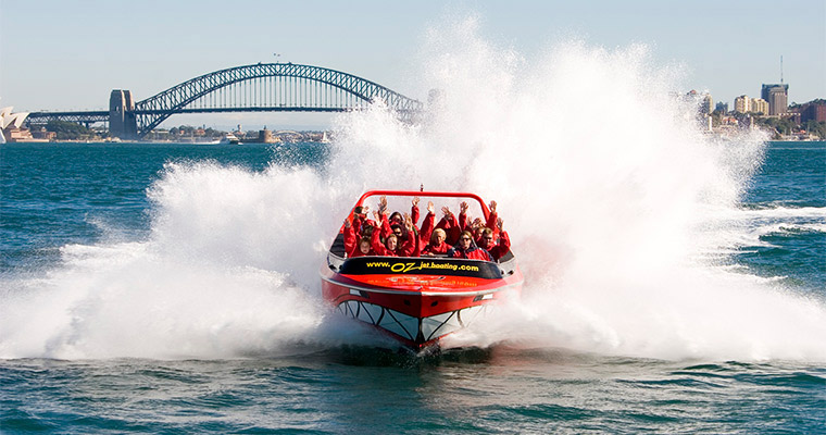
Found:
[[[364,349],[222,361],[18,360],[4,433],[818,433],[823,366]]]

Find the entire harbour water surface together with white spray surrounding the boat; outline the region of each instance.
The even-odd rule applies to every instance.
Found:
[[[0,146],[0,432],[823,432],[826,144],[705,137],[644,47],[433,36],[414,126]],[[496,199],[526,284],[411,356],[317,270],[361,192],[420,184]]]

